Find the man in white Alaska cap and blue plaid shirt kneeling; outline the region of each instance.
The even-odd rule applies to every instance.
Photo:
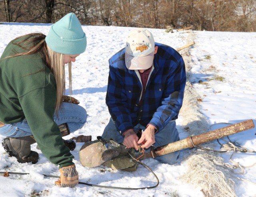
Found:
[[[109,65],[106,104],[111,118],[102,138],[134,148],[137,156],[139,148],[146,153],[151,146],[178,141],[175,120],[186,85],[182,56],[172,47],[155,43],[148,30],[136,29]],[[156,160],[174,164],[178,156],[179,152],[173,152]]]

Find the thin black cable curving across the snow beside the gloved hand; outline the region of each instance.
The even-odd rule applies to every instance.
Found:
[[[130,153],[129,153],[130,155]],[[130,155],[131,156],[131,155]],[[132,156],[131,156],[132,157]],[[94,185],[94,184],[90,184],[90,183],[84,183],[84,182],[78,182],[79,184],[82,185],[88,185],[88,186],[93,186],[93,187],[104,187],[104,188],[110,188],[110,189],[127,189],[127,190],[138,190],[138,189],[153,189],[155,187],[157,187],[159,185],[159,179],[156,176],[156,174],[152,171],[152,169],[150,169],[146,164],[142,163],[139,160],[136,160],[135,158],[132,157],[133,160],[135,160],[136,162],[138,162],[139,164],[143,165],[144,167],[146,167],[153,175],[154,177],[156,177],[157,180],[157,184],[151,187],[140,187],[140,188],[130,188],[130,187],[112,187],[112,186],[104,186],[104,185]],[[4,174],[6,172],[0,172],[0,174]],[[20,175],[26,175],[26,174],[30,174],[30,173],[21,173],[21,172],[8,172],[9,174],[20,174]],[[54,175],[47,175],[47,174],[43,174],[45,177],[54,177],[54,178],[60,178],[59,176],[54,176]]]

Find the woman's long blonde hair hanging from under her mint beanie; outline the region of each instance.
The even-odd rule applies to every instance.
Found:
[[[60,104],[62,102],[62,95],[65,93],[65,65],[63,65],[64,55],[61,53],[56,53],[50,49],[45,41],[46,35],[42,33],[30,33],[17,37],[12,41],[12,44],[18,45],[25,52],[17,53],[14,51],[13,55],[6,58],[16,57],[19,55],[31,55],[34,53],[40,53],[42,59],[44,59],[46,66],[51,70],[56,81],[56,103],[55,103],[55,113],[58,115],[60,109]],[[23,38],[19,40],[20,38]],[[32,43],[32,45],[31,45]],[[2,59],[1,59],[2,60]],[[72,93],[72,73],[71,73],[72,63],[68,63],[68,75],[69,75],[69,90],[70,95]],[[43,71],[43,70],[40,70]],[[38,72],[40,72],[38,71]],[[34,74],[34,73],[31,73]]]

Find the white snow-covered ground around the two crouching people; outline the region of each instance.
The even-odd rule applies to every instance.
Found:
[[[42,32],[47,35],[49,28],[47,24],[0,24],[0,54],[11,39],[32,32]],[[96,136],[102,134],[110,118],[105,104],[108,59],[125,46],[126,36],[132,28],[83,26],[83,30],[86,33],[88,45],[86,52],[78,56],[73,64],[73,96],[80,100],[80,105],[86,108],[89,116],[84,128],[74,132],[71,136],[66,136],[65,139],[83,134],[92,135],[92,140],[96,140]],[[175,49],[195,41],[195,45],[189,50],[180,51],[187,62],[188,85],[197,95],[192,97],[189,92],[186,93],[188,97],[192,97],[192,101],[184,104],[186,104],[186,109],[194,110],[194,113],[188,114],[186,112],[189,110],[181,110],[177,120],[181,139],[189,135],[184,128],[193,125],[191,121],[196,119],[195,116],[201,117],[199,119],[202,120],[201,128],[197,123],[198,130],[202,128],[214,130],[248,119],[253,119],[256,124],[256,47],[254,46],[256,33],[191,30],[166,33],[161,29],[149,30],[156,42],[170,45]],[[198,102],[198,109],[194,109],[192,105],[195,100],[201,101]],[[197,128],[194,126],[193,129]],[[0,136],[0,140],[3,138]],[[255,129],[232,135],[230,139],[248,150],[256,151]],[[83,167],[79,160],[79,150],[82,145],[82,143],[77,143],[76,149],[72,152],[81,182],[134,188],[156,184],[154,176],[142,165],[139,165],[135,172],[114,171],[103,166]],[[217,142],[213,142],[213,146],[218,150],[220,148]],[[120,190],[86,185],[60,188],[54,185],[56,178],[42,175],[58,176],[58,167],[48,162],[42,153],[36,150],[36,144],[32,145],[32,150],[39,153],[38,164],[19,164],[15,158],[8,157],[4,148],[0,146],[0,171],[30,173],[29,175],[10,175],[8,178],[1,176],[1,197],[32,197],[36,194],[41,197],[204,197],[200,191],[202,187],[185,183],[180,179],[188,170],[186,160],[181,160],[175,165],[160,164],[154,159],[143,160],[160,180],[159,186],[154,189]],[[182,151],[182,158],[189,157],[190,153],[190,150]],[[218,154],[218,156],[224,158],[225,162],[229,162],[231,153]],[[255,153],[238,153],[235,154],[233,160],[248,166],[256,163],[256,155]],[[256,166],[246,168],[243,175],[236,176],[252,182],[233,178],[236,195],[256,197]]]

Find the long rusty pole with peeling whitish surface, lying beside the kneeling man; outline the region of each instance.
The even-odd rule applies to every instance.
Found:
[[[177,142],[160,146],[155,150],[152,150],[151,152],[144,154],[142,157],[140,157],[140,160],[146,158],[155,158],[157,156],[162,156],[168,153],[176,152],[178,150],[182,150],[185,148],[193,148],[199,144],[210,142],[212,140],[223,138],[225,136],[236,134],[238,132],[242,132],[252,128],[254,128],[253,121],[246,120],[243,122],[232,124],[230,126],[226,126],[224,128],[219,128],[210,132],[206,132],[204,134],[200,134],[197,136],[189,136],[188,138],[185,138],[183,140],[179,140]]]

